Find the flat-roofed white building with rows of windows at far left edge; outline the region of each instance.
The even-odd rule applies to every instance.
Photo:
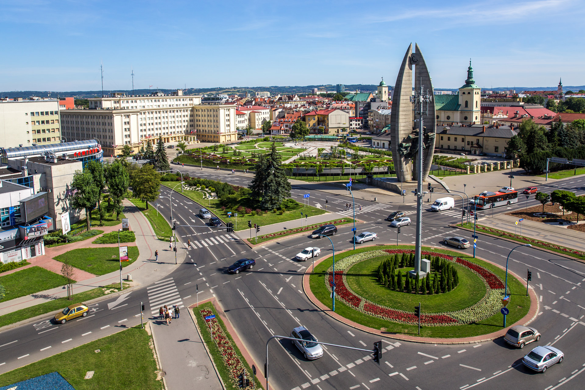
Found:
[[[0,99],[0,146],[61,142],[59,100]]]

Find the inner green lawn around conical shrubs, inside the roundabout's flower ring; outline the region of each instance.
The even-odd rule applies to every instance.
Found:
[[[459,285],[450,292],[438,295],[416,295],[391,290],[380,284],[377,278],[378,264],[386,258],[388,256],[370,258],[350,268],[347,271],[349,287],[372,302],[408,312],[421,302],[424,313],[442,313],[469,308],[486,295],[486,285],[480,277],[457,264],[455,267],[459,272]],[[398,269],[402,275],[409,270],[412,268]]]

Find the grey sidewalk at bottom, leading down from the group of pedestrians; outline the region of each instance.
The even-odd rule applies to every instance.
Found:
[[[173,318],[170,325],[159,319],[151,322],[150,329],[156,336],[161,370],[166,373],[164,381],[168,390],[221,389],[218,374],[190,311],[189,308],[183,308],[180,317]]]

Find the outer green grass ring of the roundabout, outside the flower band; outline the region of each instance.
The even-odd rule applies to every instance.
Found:
[[[347,251],[336,256],[336,260],[340,260],[343,257],[351,254],[360,253],[369,250],[383,250],[383,249],[412,249],[412,246],[380,246],[373,248],[360,248],[355,251]],[[494,272],[502,280],[505,278],[505,272],[501,268],[496,267],[486,261],[479,260],[478,258],[472,258],[471,256],[462,255],[449,250],[442,250],[431,247],[423,247],[423,250],[429,250],[438,253],[446,253],[452,256],[459,256],[468,261],[480,264],[488,270]],[[315,267],[315,273],[310,276],[311,291],[315,294],[319,301],[323,302],[328,308],[331,309],[331,297],[329,290],[325,285],[325,272],[333,263],[332,258],[329,257],[319,265]],[[461,275],[461,274],[460,274]],[[511,302],[507,308],[510,309],[510,314],[507,316],[507,325],[517,322],[519,319],[524,317],[530,308],[530,299],[526,295],[526,287],[524,287],[518,279],[508,275],[508,287],[511,291]],[[450,294],[450,293],[448,293]],[[424,298],[424,295],[417,296],[418,298]],[[409,311],[414,311],[414,306]],[[339,315],[346,317],[352,321],[360,323],[365,326],[373,327],[374,329],[381,329],[388,333],[403,333],[417,335],[418,327],[414,325],[404,325],[397,322],[390,322],[374,316],[369,316],[360,312],[357,312],[353,308],[348,307],[341,301],[335,302],[335,312]],[[422,312],[426,313],[426,308],[422,306]],[[479,336],[481,334],[487,334],[496,332],[497,330],[503,329],[503,315],[497,314],[491,316],[483,321],[472,323],[470,325],[459,325],[459,326],[421,326],[422,337],[438,337],[438,338],[453,338],[453,337],[471,337]]]

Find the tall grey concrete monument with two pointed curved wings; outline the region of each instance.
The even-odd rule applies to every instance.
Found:
[[[431,76],[426,68],[425,58],[421,49],[415,44],[416,53],[412,53],[412,43],[408,46],[396,84],[392,99],[392,112],[390,115],[390,139],[392,143],[392,158],[394,170],[400,182],[418,180],[417,171],[411,163],[415,163],[414,157],[418,153],[419,123],[414,122],[414,107],[412,104],[412,65],[414,65],[414,87],[415,91],[424,91],[425,94],[433,96],[433,85]],[[423,115],[423,158],[422,158],[422,181],[431,170],[435,146],[435,99],[431,99],[425,106]]]

